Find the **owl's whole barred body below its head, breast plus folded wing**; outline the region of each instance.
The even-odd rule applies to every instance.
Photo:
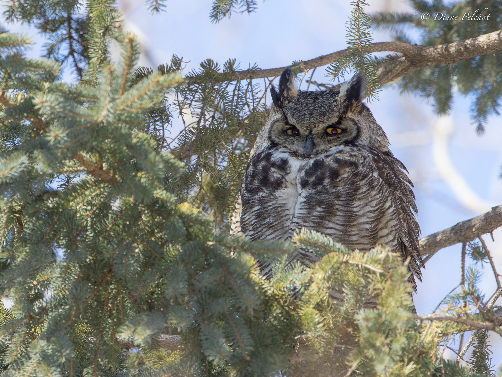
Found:
[[[385,245],[403,261],[410,257],[409,268],[420,278],[420,227],[404,170],[389,151],[338,146],[306,160],[265,148],[249,159],[231,233],[285,240],[305,227],[350,249]],[[415,286],[413,276],[410,282]]]

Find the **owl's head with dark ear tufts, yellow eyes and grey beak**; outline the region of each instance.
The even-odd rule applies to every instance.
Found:
[[[260,135],[269,145],[305,159],[344,145],[389,150],[384,130],[362,103],[366,86],[362,73],[340,90],[301,91],[295,78],[293,70],[286,68],[279,87],[270,89],[273,106]]]

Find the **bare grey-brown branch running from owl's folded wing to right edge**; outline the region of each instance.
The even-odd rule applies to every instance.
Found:
[[[500,227],[502,227],[502,206],[497,206],[478,217],[420,239],[420,255],[432,256],[444,247],[472,241]]]

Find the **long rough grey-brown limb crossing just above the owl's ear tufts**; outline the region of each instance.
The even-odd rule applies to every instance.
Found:
[[[502,31],[483,34],[475,38],[442,44],[438,46],[410,45],[403,42],[372,43],[371,52],[393,51],[403,54],[402,57],[381,66],[377,73],[380,83],[385,84],[419,68],[435,64],[452,64],[463,59],[491,54],[502,50]],[[303,61],[301,69],[309,70],[333,63],[348,54],[348,49],[321,55],[317,58]],[[215,74],[214,82],[234,81],[249,78],[264,78],[279,76],[286,67],[269,69],[247,69]],[[188,78],[188,82],[197,83],[197,76]]]

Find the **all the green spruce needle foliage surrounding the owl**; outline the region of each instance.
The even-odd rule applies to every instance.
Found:
[[[419,11],[447,8],[413,4]],[[149,5],[158,12],[164,3]],[[215,0],[210,17],[217,22],[256,7]],[[410,18],[368,16],[361,1],[353,7],[348,51],[328,72],[337,79],[343,69],[362,70],[375,95],[386,83],[382,67],[399,67],[411,53],[374,58],[370,21],[398,28]],[[462,9],[455,7],[448,11]],[[210,59],[182,72],[177,56],[138,67],[140,46],[122,32],[111,0],[15,0],[5,17],[35,25],[51,43],[45,58],[29,59],[26,36],[0,34],[0,287],[13,303],[0,307],[3,375],[492,373],[486,338],[487,331],[502,334],[493,306],[502,289],[485,298],[479,269],[463,263],[459,287],[435,313],[420,317],[413,314],[406,265],[383,247],[350,251],[306,230],[286,243],[227,235],[275,73],[263,85],[263,77],[253,78],[265,75],[258,66],[239,74],[235,60],[220,66]],[[422,44],[488,34],[500,29],[497,17],[473,30],[437,31],[424,23]],[[434,37],[445,32],[448,38]],[[403,33],[397,38],[405,40]],[[110,59],[112,41],[120,46],[118,61]],[[429,88],[445,112],[445,93],[456,80],[478,94],[473,115],[482,124],[498,108],[499,65],[490,59],[500,50],[455,66],[438,58],[401,84],[419,93]],[[78,83],[60,80],[68,61]],[[306,64],[293,62],[298,72]],[[479,69],[487,64],[494,69]],[[461,78],[466,70],[472,76]],[[450,84],[433,81],[437,74]],[[481,87],[486,80],[491,86]],[[166,124],[184,109],[196,121],[168,143]],[[481,268],[493,266],[482,238],[461,242],[464,262],[467,256]],[[311,267],[290,263],[296,248],[322,259]],[[274,264],[272,280],[260,276],[255,258]],[[333,286],[343,290],[342,302],[330,298]],[[378,298],[377,309],[363,307],[368,292]],[[441,349],[471,330],[468,366],[445,360]],[[176,335],[178,346],[164,348],[162,339]]]

